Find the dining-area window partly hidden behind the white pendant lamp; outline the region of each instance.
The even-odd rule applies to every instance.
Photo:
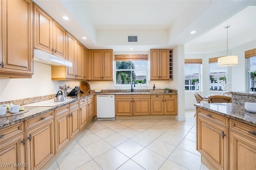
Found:
[[[218,80],[226,80],[227,68],[218,67],[218,57],[209,59],[209,89],[210,91],[222,91],[222,84]],[[212,88],[214,86],[214,88]],[[218,88],[219,87],[219,88]]]

